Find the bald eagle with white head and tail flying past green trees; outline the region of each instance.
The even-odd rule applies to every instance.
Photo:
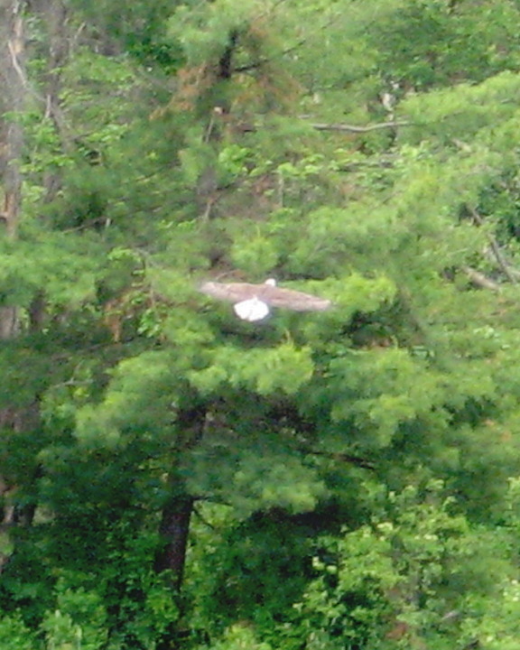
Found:
[[[283,307],[292,311],[325,311],[332,303],[311,293],[283,289],[274,278],[265,283],[216,283],[207,282],[200,286],[200,292],[217,300],[233,302],[238,318],[254,322],[263,320],[270,313],[270,307]]]

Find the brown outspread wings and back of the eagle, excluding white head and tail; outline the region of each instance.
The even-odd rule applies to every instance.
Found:
[[[325,311],[330,308],[330,300],[319,298],[311,293],[282,289],[272,284],[214,283],[202,284],[200,291],[213,298],[228,302],[244,302],[257,298],[272,307],[284,307],[292,311]]]

